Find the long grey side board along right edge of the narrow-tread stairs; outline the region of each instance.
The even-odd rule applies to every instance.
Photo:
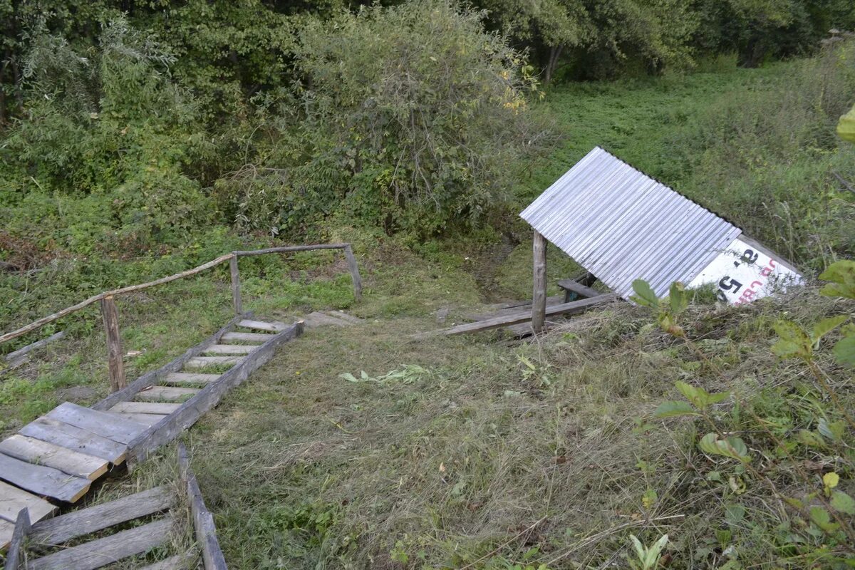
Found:
[[[258,367],[273,358],[280,344],[297,338],[302,333],[303,323],[298,322],[279,334],[269,335],[271,338],[267,343],[246,356],[237,366],[229,369],[219,380],[206,385],[196,396],[181,404],[180,409],[140,433],[128,446],[128,458],[133,457],[132,461],[128,461],[128,466],[133,468],[140,461],[144,461],[152,450],[172,441],[180,432],[196,423],[199,416],[220,402],[223,394],[239,385]]]

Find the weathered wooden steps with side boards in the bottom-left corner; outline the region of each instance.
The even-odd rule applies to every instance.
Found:
[[[9,545],[6,569],[94,570],[165,547],[176,532],[182,532],[175,525],[172,509],[189,504],[197,547],[146,568],[195,568],[201,559],[205,570],[227,570],[216,538],[214,519],[205,507],[181,444],[178,455],[180,485],[177,488],[183,500],[177,500],[172,485],[165,485],[34,523],[29,520],[27,509],[22,509],[15,521],[15,536]],[[141,524],[128,527],[130,521]],[[80,542],[80,538],[94,532],[98,533],[97,538]],[[22,563],[25,558],[26,563]]]

